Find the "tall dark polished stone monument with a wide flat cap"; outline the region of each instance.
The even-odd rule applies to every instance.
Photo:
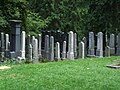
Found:
[[[10,32],[10,52],[15,52],[14,55],[10,55],[15,58],[20,56],[20,33],[21,33],[21,20],[10,20],[11,32]]]

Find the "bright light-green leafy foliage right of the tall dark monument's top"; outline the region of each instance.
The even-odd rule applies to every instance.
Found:
[[[41,17],[37,13],[28,12],[26,19],[28,34],[36,36],[38,33],[41,32],[41,29],[47,27],[49,20],[49,18],[41,19]]]

